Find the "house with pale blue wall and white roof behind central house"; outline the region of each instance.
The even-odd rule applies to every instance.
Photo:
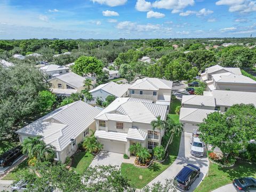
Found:
[[[92,94],[92,100],[90,103],[95,104],[97,98],[101,99],[102,101],[106,101],[108,95],[114,95],[116,98],[127,97],[130,86],[131,85],[129,84],[117,84],[115,82],[101,84],[90,91]]]

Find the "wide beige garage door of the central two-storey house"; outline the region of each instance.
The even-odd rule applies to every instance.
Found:
[[[103,150],[125,154],[125,143],[110,140],[99,140],[103,144]]]

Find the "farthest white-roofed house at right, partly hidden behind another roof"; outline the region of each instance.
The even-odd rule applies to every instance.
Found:
[[[208,67],[205,69],[205,72],[201,74],[200,80],[201,81],[209,81],[212,80],[213,74],[221,74],[221,73],[233,73],[236,75],[242,75],[241,70],[239,68],[232,68],[232,67],[221,67],[219,65],[215,65],[212,67]]]

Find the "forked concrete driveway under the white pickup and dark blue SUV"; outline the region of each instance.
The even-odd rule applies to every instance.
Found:
[[[152,186],[155,182],[165,182],[165,179],[173,179],[179,171],[183,168],[183,165],[187,165],[188,163],[197,165],[201,169],[201,174],[199,178],[197,178],[194,183],[191,185],[189,191],[195,190],[195,188],[199,185],[199,183],[204,179],[205,175],[209,169],[209,160],[206,157],[194,157],[190,154],[190,140],[192,133],[183,133],[181,135],[180,141],[180,150],[177,159],[173,162],[173,164],[168,167],[164,172],[159,174],[154,180],[148,183],[149,186]],[[206,151],[206,150],[205,150]]]

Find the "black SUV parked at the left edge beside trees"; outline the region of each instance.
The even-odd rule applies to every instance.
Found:
[[[11,166],[22,155],[21,146],[14,147],[0,156],[0,166]]]

